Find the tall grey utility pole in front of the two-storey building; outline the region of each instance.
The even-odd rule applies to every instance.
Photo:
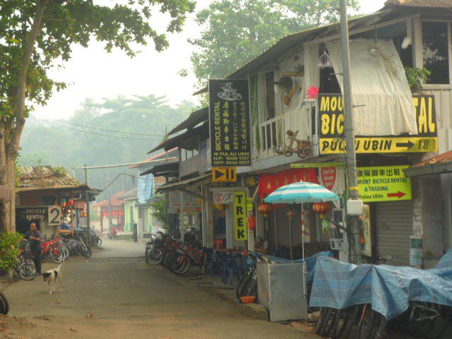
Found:
[[[352,87],[350,81],[350,45],[348,39],[347,0],[340,0],[340,42],[342,47],[342,71],[343,71],[343,100],[344,100],[344,125],[345,125],[345,165],[347,171],[348,198],[357,200],[357,166],[355,153],[355,131],[353,130],[353,103]],[[357,248],[357,261],[359,260],[359,217],[350,216],[350,226],[355,237],[355,249]]]

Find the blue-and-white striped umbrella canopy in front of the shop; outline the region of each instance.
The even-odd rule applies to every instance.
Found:
[[[329,189],[311,182],[295,182],[273,191],[263,201],[266,203],[321,203],[338,201]]]

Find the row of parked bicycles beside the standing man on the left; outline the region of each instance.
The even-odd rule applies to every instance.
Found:
[[[91,258],[93,251],[91,247],[97,247],[102,244],[102,239],[95,232],[91,234],[91,244],[85,234],[60,234],[42,239],[41,242],[41,260],[62,263],[69,256],[83,256]],[[30,249],[30,242],[24,239],[20,242],[20,254],[17,258],[16,272],[23,280],[33,280],[37,274],[35,263],[32,260],[33,255]]]

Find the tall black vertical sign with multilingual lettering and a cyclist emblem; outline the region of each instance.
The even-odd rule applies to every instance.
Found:
[[[213,167],[251,166],[248,81],[209,80],[210,157]]]

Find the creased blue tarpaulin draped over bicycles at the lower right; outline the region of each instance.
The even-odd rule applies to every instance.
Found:
[[[389,265],[353,265],[322,256],[316,261],[311,307],[344,309],[371,304],[392,319],[410,301],[452,307],[452,250],[432,270]]]

